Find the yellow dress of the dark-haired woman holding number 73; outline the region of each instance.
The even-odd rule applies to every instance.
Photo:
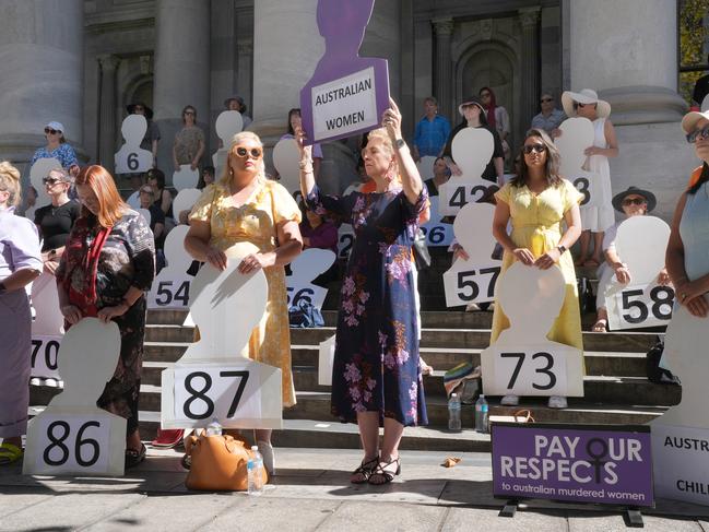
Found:
[[[507,184],[495,193],[495,198],[509,205],[512,241],[520,248],[528,248],[534,258],[537,258],[558,246],[564,234],[562,228],[564,214],[575,203],[579,203],[583,194],[571,182],[564,179],[558,187],[548,187],[539,194],[533,193],[527,186],[515,187]],[[517,258],[506,250],[501,271],[505,272],[516,260]],[[560,257],[558,265],[566,282],[566,297],[547,338],[553,342],[572,345],[583,351],[576,270],[570,251],[566,251]],[[499,305],[495,305],[491,342],[494,343],[499,333],[507,328],[509,328],[507,316]]]

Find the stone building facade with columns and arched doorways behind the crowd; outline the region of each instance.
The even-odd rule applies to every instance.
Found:
[[[172,167],[190,104],[218,147],[214,120],[239,94],[272,144],[322,54],[317,0],[3,0],[0,157],[29,159],[50,120],[85,161],[113,166],[126,106],[142,101]],[[378,0],[361,50],[389,60],[411,137],[434,95],[453,122],[468,94],[491,86],[519,142],[541,92],[595,88],[613,106],[621,156],[614,190],[643,186],[667,217],[697,165],[680,130],[676,0]],[[324,146],[323,188],[354,177],[353,141]]]

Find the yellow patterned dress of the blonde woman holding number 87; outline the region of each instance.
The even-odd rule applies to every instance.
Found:
[[[192,208],[190,221],[208,222],[211,226],[210,245],[222,251],[237,243],[251,243],[261,252],[277,247],[276,226],[283,222],[300,223],[300,210],[288,191],[275,181],[263,181],[253,190],[244,205],[236,208],[228,187],[215,184],[204,190]],[[281,368],[283,375],[283,405],[295,404],[295,389],[291,373],[291,329],[286,304],[285,271],[283,267],[264,268],[269,284],[265,312],[251,332],[244,355]]]

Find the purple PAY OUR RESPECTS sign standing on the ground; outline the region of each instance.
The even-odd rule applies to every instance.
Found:
[[[494,423],[493,495],[654,506],[650,427]]]

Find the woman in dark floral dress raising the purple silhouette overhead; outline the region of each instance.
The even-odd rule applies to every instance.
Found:
[[[401,137],[391,101],[385,128],[371,131],[362,156],[375,192],[321,194],[312,177],[311,149],[302,146],[300,188],[308,208],[355,230],[342,284],[332,373],[332,413],[357,423],[365,457],[353,483],[383,484],[400,472],[404,426],[426,425],[411,246],[427,192]],[[385,438],[379,449],[379,426]]]

